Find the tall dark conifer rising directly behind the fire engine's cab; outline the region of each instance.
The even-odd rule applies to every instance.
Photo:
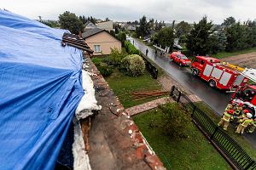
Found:
[[[190,31],[186,44],[192,54],[209,54],[212,48],[212,21],[207,21],[207,16],[204,16],[198,24],[194,23],[193,29]]]

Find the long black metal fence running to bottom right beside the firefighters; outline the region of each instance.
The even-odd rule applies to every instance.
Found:
[[[182,94],[175,86],[172,86],[170,95],[191,114],[191,119],[195,123],[195,126],[201,130],[234,169],[256,169],[256,162],[247,155],[247,152],[219,128],[216,123],[212,122],[209,116],[204,111],[201,111],[188,96]]]

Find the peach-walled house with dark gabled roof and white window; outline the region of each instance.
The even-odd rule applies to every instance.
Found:
[[[94,50],[93,55],[110,54],[111,48],[121,50],[121,42],[108,31],[99,28],[90,29],[85,31],[82,37],[88,46]]]

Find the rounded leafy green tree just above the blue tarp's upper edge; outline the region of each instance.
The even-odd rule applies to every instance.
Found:
[[[84,30],[83,22],[79,20],[76,14],[70,13],[69,11],[59,15],[59,22],[62,29],[67,29],[73,34],[79,34],[79,31]]]

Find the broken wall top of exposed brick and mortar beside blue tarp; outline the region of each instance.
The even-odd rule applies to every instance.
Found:
[[[164,169],[154,152],[148,150],[137,126],[114,96],[108,83],[90,59],[86,71],[92,75],[98,105],[102,110],[92,118],[89,133],[90,165],[102,169]],[[83,124],[82,124],[83,126]]]

